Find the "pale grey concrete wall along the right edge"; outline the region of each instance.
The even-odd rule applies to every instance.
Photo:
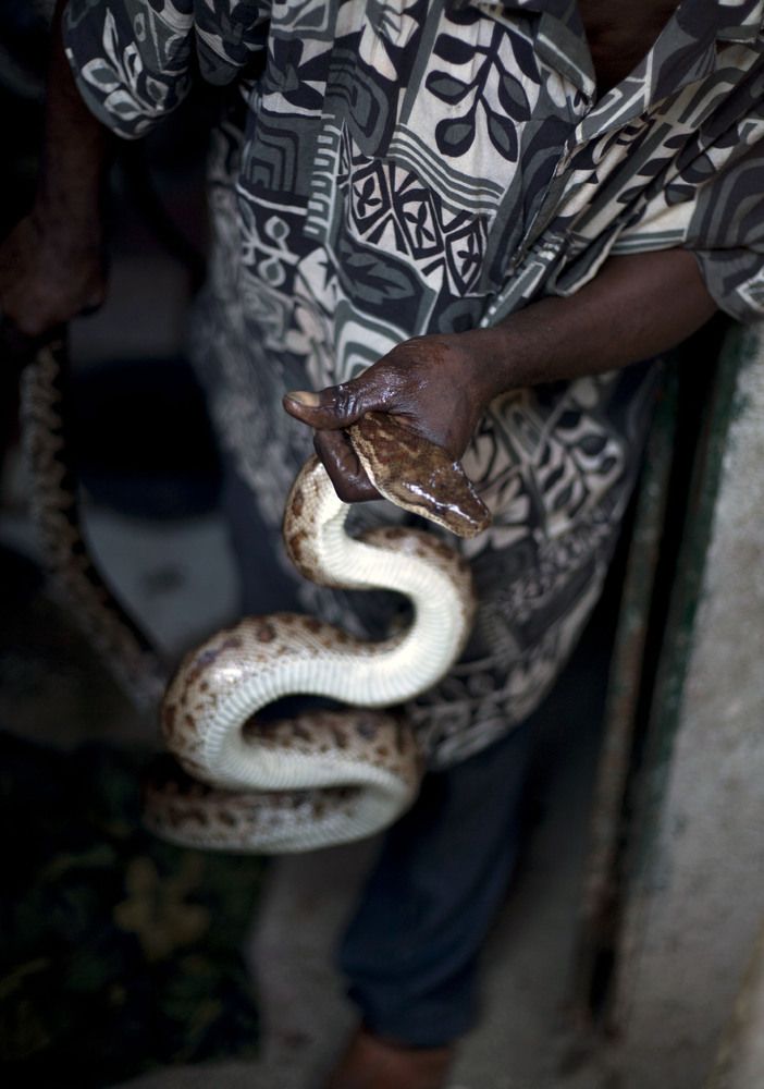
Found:
[[[624,1089],[705,1082],[764,910],[762,328],[726,343],[705,449],[619,949]]]

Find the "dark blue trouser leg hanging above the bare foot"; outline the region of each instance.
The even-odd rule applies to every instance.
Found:
[[[426,776],[340,951],[367,1027],[435,1048],[476,1016],[476,963],[517,858],[532,725]]]

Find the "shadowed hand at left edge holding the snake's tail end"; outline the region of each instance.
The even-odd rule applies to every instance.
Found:
[[[0,315],[5,334],[30,342],[103,302],[100,230],[87,235],[38,215],[0,243]]]

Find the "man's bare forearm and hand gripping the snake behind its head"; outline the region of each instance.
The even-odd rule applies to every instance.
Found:
[[[406,341],[352,382],[287,393],[284,407],[317,429],[340,498],[375,499],[340,430],[365,413],[392,413],[458,458],[500,393],[650,359],[715,309],[691,253],[614,257],[570,297],[542,298],[491,329]]]

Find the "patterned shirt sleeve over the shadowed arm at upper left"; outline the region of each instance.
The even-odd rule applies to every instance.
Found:
[[[194,71],[234,79],[266,48],[270,0],[71,0],[66,57],[96,117],[143,136],[188,94]]]

